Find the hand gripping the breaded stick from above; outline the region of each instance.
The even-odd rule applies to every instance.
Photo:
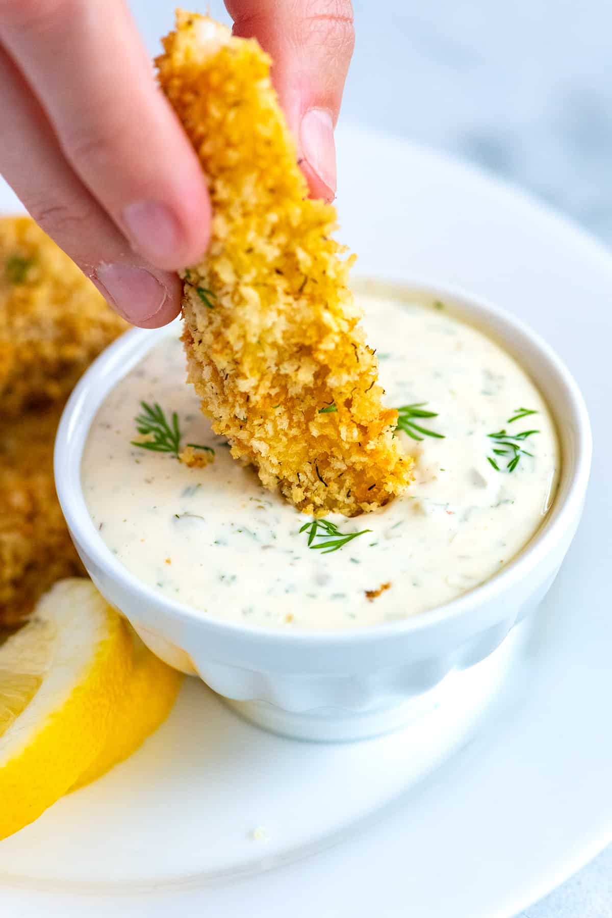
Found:
[[[273,57],[311,193],[332,199],[350,0],[226,5]],[[0,172],[117,312],[173,319],[174,272],[206,251],[210,202],[124,0],[0,0],[0,128]]]

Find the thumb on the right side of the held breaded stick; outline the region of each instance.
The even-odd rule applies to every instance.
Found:
[[[351,0],[226,0],[234,34],[273,59],[273,83],[313,197],[336,194],[334,127],[354,45]]]

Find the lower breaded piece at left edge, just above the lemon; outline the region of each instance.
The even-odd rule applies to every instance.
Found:
[[[53,481],[62,407],[0,424],[0,630],[23,620],[56,580],[83,576]]]

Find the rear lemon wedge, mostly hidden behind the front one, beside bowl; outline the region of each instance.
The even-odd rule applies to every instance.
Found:
[[[113,714],[106,745],[72,790],[101,778],[109,768],[131,756],[172,710],[183,673],[151,654],[138,634],[131,633],[133,666],[128,687]]]

